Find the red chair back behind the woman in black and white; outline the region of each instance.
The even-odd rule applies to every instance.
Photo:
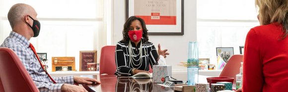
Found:
[[[115,60],[116,46],[103,46],[100,54],[100,75],[114,75],[116,71]]]

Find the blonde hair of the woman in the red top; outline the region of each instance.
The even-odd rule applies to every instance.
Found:
[[[284,39],[288,35],[288,0],[255,0],[261,25],[278,22],[283,25]]]

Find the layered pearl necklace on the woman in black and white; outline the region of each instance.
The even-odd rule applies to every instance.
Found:
[[[141,67],[141,66],[142,66],[142,41],[140,42],[140,49],[139,49],[139,53],[138,53],[138,54],[135,54],[135,53],[134,53],[134,51],[133,51],[133,49],[132,49],[131,41],[129,42],[129,48],[128,48],[128,49],[129,49],[129,55],[130,55],[130,58],[129,58],[130,63],[132,63],[132,64],[135,65],[135,66],[139,66],[139,65],[140,65],[139,67]],[[137,46],[136,46],[135,49],[137,49]],[[139,54],[140,54],[140,57],[139,57],[138,60],[136,60],[133,55],[136,55],[136,57],[137,57]],[[135,61],[139,61],[139,60],[140,60],[140,63],[139,63],[138,65],[136,65],[136,64],[133,62],[132,59],[134,59]],[[132,67],[133,67],[133,66],[132,66]],[[139,67],[138,67],[138,68],[139,68]]]

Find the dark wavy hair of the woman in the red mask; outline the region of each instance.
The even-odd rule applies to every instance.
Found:
[[[146,28],[146,24],[145,24],[145,22],[144,22],[144,20],[142,19],[142,18],[140,18],[140,17],[136,17],[136,16],[131,16],[131,17],[129,17],[127,20],[126,20],[126,22],[125,22],[125,24],[124,24],[124,28],[123,28],[123,39],[122,39],[122,41],[125,43],[125,44],[128,44],[129,43],[129,40],[130,40],[130,38],[129,38],[129,36],[128,36],[128,31],[129,31],[129,28],[130,28],[130,25],[131,25],[131,23],[134,21],[134,20],[139,20],[140,21],[140,23],[141,23],[141,25],[142,25],[142,29],[143,29],[143,35],[142,35],[142,37],[143,37],[143,43],[145,43],[145,42],[147,42],[149,39],[148,39],[148,30],[147,30],[147,28]]]

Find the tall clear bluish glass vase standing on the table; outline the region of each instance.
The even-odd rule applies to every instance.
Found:
[[[192,86],[198,83],[198,73],[199,73],[198,43],[189,42],[188,60],[187,60],[188,86]]]

